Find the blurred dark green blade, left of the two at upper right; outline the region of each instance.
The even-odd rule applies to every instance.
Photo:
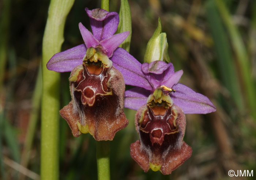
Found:
[[[229,90],[230,96],[236,103],[238,109],[243,111],[243,100],[241,96],[238,96],[241,94],[241,89],[238,84],[239,80],[234,66],[234,58],[227,39],[227,33],[223,27],[217,6],[213,0],[207,1],[206,14],[214,41],[214,48],[217,53],[217,63],[222,84]]]

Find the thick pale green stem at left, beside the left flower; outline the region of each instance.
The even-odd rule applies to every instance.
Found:
[[[46,64],[60,52],[67,15],[74,0],[51,0],[42,47],[41,180],[59,179],[59,81],[60,74]]]

